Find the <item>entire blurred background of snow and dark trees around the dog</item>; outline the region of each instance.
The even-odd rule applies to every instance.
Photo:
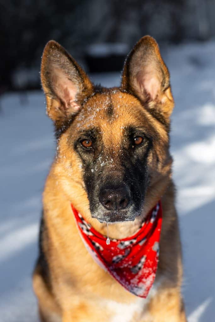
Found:
[[[171,153],[189,322],[215,316],[215,1],[0,0],[0,320],[38,322],[31,274],[55,155],[40,61],[54,39],[103,86],[145,34],[159,43],[175,99]],[[120,322],[120,321],[119,321]]]

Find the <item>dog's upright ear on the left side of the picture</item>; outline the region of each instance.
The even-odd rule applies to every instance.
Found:
[[[82,100],[93,92],[93,85],[83,69],[53,40],[44,48],[41,81],[47,114],[58,126],[77,113]]]

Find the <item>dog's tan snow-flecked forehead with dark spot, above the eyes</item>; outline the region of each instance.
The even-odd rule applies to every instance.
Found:
[[[95,94],[83,105],[75,123],[80,129],[98,128],[105,137],[118,139],[128,126],[141,126],[143,107],[134,96],[121,91]]]

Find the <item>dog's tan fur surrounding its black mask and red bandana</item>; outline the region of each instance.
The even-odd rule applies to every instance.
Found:
[[[145,38],[142,42],[144,43],[144,41],[148,42],[149,40]],[[153,46],[154,43],[151,42]],[[154,50],[158,55],[158,48],[155,47]],[[44,51],[43,70],[46,68],[47,53],[48,48]],[[159,58],[159,60],[162,63],[162,59]],[[126,68],[125,66],[122,81],[124,89],[126,82],[128,82]],[[163,70],[169,77],[168,70],[164,65]],[[84,76],[82,75],[82,77]],[[54,103],[51,103],[53,99],[50,98],[50,90],[46,88],[47,81],[44,74],[42,74],[42,80],[45,84],[45,92],[48,91],[47,108],[50,110]],[[86,83],[89,85],[88,79]],[[71,203],[97,231],[106,234],[106,229],[105,224],[101,224],[91,217],[83,182],[81,160],[73,149],[73,141],[80,129],[88,128],[92,124],[95,127],[98,126],[101,129],[104,149],[106,149],[106,158],[101,162],[108,164],[111,171],[114,172],[118,166],[118,155],[121,153],[120,142],[123,140],[124,128],[128,124],[142,126],[143,120],[146,131],[153,131],[159,138],[158,142],[155,142],[155,152],[151,152],[149,155],[149,171],[153,175],[147,189],[144,208],[141,216],[137,217],[134,222],[110,225],[109,234],[110,237],[117,239],[132,235],[145,215],[161,198],[163,223],[159,266],[155,280],[155,284],[157,283],[159,286],[155,294],[138,302],[140,304],[137,304],[138,308],[132,312],[129,322],[186,321],[180,291],[182,279],[181,244],[174,207],[174,184],[171,179],[172,159],[168,152],[168,134],[165,126],[151,114],[151,110],[160,104],[163,105],[164,117],[167,118],[170,115],[173,99],[171,89],[169,85],[167,86],[168,88],[164,89],[164,94],[160,95],[162,102],[156,101],[155,103],[155,100],[152,99],[146,108],[143,108],[139,99],[129,92],[123,92],[123,89],[104,90],[103,93],[94,94],[86,102],[82,102],[81,112],[61,135],[57,156],[47,177],[43,194],[45,228],[42,232],[42,243],[50,276],[49,281],[45,281],[38,265],[34,271],[33,279],[42,321],[121,322],[120,319],[114,320],[116,309],[110,303],[114,301],[114,303],[127,306],[133,305],[136,308],[135,303],[138,298],[122,288],[94,262],[79,236]],[[88,90],[91,91],[91,89],[92,87],[89,85]],[[57,99],[54,98],[54,102],[56,101]],[[110,102],[114,107],[114,117],[107,121],[106,110]],[[59,115],[62,121],[62,111],[59,105],[55,106],[53,113],[50,114],[50,117],[55,122],[59,122]],[[157,157],[159,158],[158,164]]]

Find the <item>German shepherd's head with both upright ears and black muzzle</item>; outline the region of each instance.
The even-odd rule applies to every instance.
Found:
[[[54,41],[44,49],[41,79],[67,191],[82,185],[100,222],[134,220],[149,187],[170,173],[174,103],[156,41],[145,36],[134,46],[120,88],[94,86]]]

